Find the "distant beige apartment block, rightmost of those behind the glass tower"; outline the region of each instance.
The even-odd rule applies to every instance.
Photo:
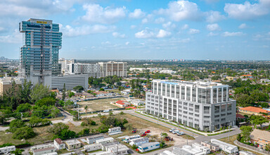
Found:
[[[119,77],[127,77],[127,62],[100,62],[102,77],[109,75],[117,75]]]

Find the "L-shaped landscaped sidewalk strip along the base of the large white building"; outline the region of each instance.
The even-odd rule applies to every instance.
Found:
[[[187,130],[187,131],[190,131],[190,132],[193,132],[193,133],[196,133],[198,135],[204,135],[204,136],[213,136],[213,135],[219,135],[219,134],[222,134],[222,133],[226,133],[226,132],[231,132],[233,130],[235,130],[235,128],[231,128],[231,129],[228,129],[228,130],[221,130],[221,131],[217,131],[217,132],[204,132],[204,131],[198,131],[198,130],[195,130],[193,128],[189,128],[187,126],[184,126],[184,125],[179,125],[179,124],[176,124],[174,122],[171,122],[169,120],[164,120],[162,118],[157,118],[155,116],[152,116],[152,115],[148,115],[146,113],[141,113],[141,112],[137,112],[135,111],[135,113],[138,113],[142,116],[146,116],[146,117],[150,117],[150,118],[153,118],[157,121],[161,121],[163,123],[167,123],[169,125],[174,125],[176,128],[181,128],[181,129],[184,129],[184,130]]]

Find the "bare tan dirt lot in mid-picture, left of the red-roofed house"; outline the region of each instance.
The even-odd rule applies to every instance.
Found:
[[[114,98],[114,99],[96,99],[96,100],[91,100],[91,101],[82,101],[77,104],[81,105],[81,111],[84,110],[84,106],[88,106],[87,111],[103,111],[103,110],[108,110],[108,109],[118,109],[118,106],[113,106],[110,104],[110,102],[115,102],[118,100],[126,100],[125,98]]]

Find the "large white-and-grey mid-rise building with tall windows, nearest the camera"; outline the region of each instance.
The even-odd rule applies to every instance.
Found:
[[[153,80],[146,112],[198,130],[236,125],[236,101],[228,85],[216,82]]]

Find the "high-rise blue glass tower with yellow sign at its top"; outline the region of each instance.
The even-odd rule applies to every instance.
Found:
[[[52,20],[33,19],[20,23],[24,45],[20,49],[20,75],[33,83],[51,85],[51,76],[60,74],[58,53],[62,32]]]

